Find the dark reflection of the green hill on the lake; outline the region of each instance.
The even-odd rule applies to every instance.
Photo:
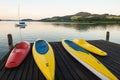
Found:
[[[120,29],[120,24],[79,24],[79,23],[65,23],[65,22],[53,22],[51,23],[55,27],[66,27],[66,28],[74,28],[77,31],[85,32],[90,29],[99,29],[99,30],[106,30],[107,28],[113,28],[117,26]]]

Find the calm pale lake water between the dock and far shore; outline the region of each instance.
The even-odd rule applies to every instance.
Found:
[[[0,58],[8,51],[7,34],[12,34],[14,45],[20,41],[33,43],[37,38],[49,42],[66,39],[105,40],[110,32],[110,41],[120,44],[120,25],[83,25],[65,22],[26,22],[25,28],[15,27],[18,22],[0,21]]]

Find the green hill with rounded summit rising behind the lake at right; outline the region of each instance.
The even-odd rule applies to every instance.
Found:
[[[120,16],[79,12],[74,15],[45,18],[43,22],[120,23]]]

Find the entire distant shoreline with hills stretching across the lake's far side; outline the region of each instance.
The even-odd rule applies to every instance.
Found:
[[[74,15],[54,16],[43,19],[20,19],[25,22],[69,22],[77,24],[120,24],[120,15],[112,14],[91,14],[79,12]],[[0,21],[19,21],[15,19],[0,19]]]

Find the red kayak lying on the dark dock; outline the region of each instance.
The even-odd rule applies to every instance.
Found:
[[[28,55],[29,50],[30,50],[29,42],[24,41],[16,44],[16,46],[14,47],[14,49],[12,50],[7,59],[5,67],[15,68],[19,66]]]

